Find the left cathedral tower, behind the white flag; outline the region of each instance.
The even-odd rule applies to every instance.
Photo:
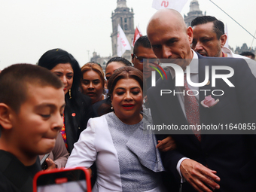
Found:
[[[133,23],[133,8],[130,11],[130,8],[127,8],[126,0],[117,0],[117,8],[112,12],[112,53],[113,56],[117,56],[117,26],[118,24],[123,29],[123,32],[126,35],[126,38],[132,44],[134,36],[134,23]],[[123,57],[130,60],[132,50],[126,50],[123,53]]]

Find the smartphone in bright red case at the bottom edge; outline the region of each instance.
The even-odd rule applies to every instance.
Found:
[[[90,173],[84,167],[52,169],[35,174],[33,192],[91,192]]]

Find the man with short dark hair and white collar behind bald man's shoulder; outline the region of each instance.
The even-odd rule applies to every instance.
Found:
[[[256,77],[256,62],[233,53],[224,47],[227,35],[224,33],[224,23],[212,16],[196,17],[191,22],[193,29],[193,41],[191,47],[202,56],[233,57],[245,59],[252,74]]]

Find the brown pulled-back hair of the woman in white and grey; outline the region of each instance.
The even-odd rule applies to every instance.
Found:
[[[143,87],[145,88],[145,90],[147,90],[145,79],[143,78],[143,73],[139,71],[139,69],[136,69],[132,66],[125,66],[125,67],[118,68],[111,75],[108,81],[108,95],[111,96],[113,94],[113,90],[115,85],[117,84],[117,81],[119,81],[120,79],[127,79],[127,78],[135,79],[139,83],[139,86],[142,88],[142,90],[143,90]],[[143,92],[143,95],[146,95],[146,94]]]

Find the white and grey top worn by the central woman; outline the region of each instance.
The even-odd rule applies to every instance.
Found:
[[[111,112],[88,121],[66,167],[90,168],[96,161],[93,191],[163,191],[157,175],[163,165],[156,143],[142,121],[126,125]]]

